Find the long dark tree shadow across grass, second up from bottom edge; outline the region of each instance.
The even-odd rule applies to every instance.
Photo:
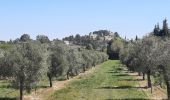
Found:
[[[134,86],[105,86],[97,89],[147,89],[148,87],[134,87]]]

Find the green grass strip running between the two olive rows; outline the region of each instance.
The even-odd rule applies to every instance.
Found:
[[[66,88],[51,94],[50,100],[115,100],[146,99],[137,87],[138,81],[127,74],[119,61],[107,61],[94,73],[73,81]]]

